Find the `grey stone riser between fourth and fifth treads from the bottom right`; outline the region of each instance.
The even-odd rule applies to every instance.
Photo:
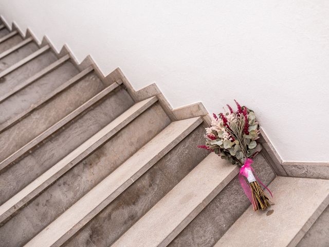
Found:
[[[59,162],[132,104],[133,100],[125,90],[115,90],[44,140],[41,146],[32,149],[21,161],[0,174],[0,204]]]

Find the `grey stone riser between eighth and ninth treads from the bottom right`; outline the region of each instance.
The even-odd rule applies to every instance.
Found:
[[[29,43],[22,48],[16,50],[12,54],[4,57],[0,60],[0,71],[5,70],[11,65],[21,61],[23,58],[29,56],[34,51],[38,50],[38,46],[35,43]],[[0,82],[3,82],[3,78],[0,78]]]

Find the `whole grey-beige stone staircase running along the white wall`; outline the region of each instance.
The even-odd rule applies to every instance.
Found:
[[[142,94],[0,23],[0,246],[328,246],[329,180],[261,151],[276,204],[253,212],[239,169],[196,147],[208,116]]]

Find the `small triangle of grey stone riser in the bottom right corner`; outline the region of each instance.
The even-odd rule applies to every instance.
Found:
[[[306,232],[297,247],[327,247],[329,246],[329,206]]]

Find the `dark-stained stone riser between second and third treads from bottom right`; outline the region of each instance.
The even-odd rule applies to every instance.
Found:
[[[207,152],[198,150],[204,125],[197,127],[64,246],[109,246],[184,178]]]

